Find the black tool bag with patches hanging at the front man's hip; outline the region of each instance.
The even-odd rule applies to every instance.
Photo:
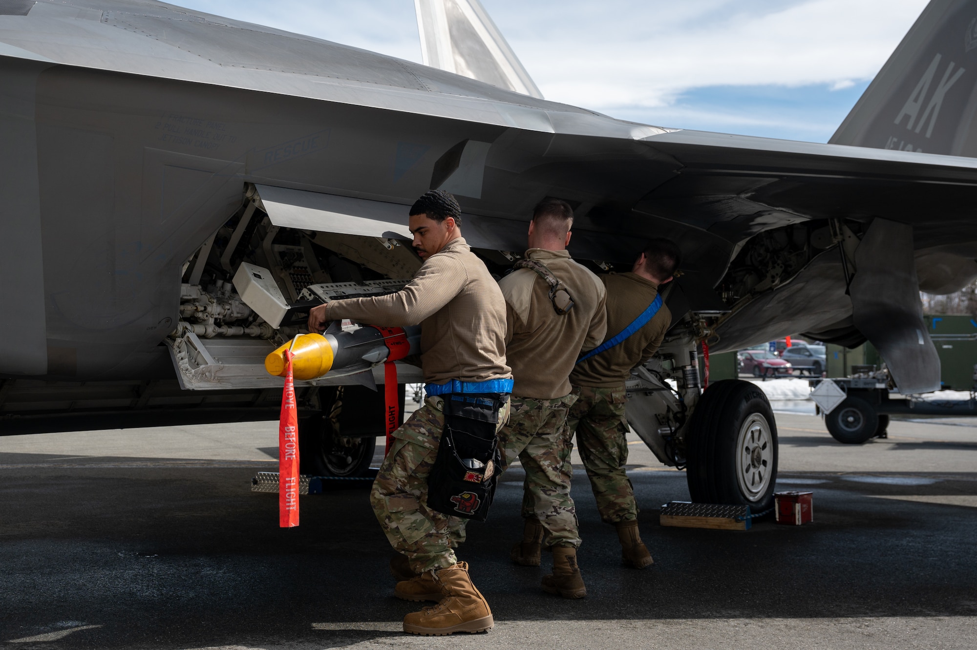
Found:
[[[497,392],[445,395],[445,430],[428,475],[428,508],[486,520],[502,460],[495,428],[508,399]]]

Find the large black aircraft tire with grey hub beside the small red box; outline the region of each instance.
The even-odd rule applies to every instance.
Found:
[[[686,456],[694,502],[749,506],[754,514],[773,508],[777,423],[758,386],[723,380],[703,391],[689,423]]]

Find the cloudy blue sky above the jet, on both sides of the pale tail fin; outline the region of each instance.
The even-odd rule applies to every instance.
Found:
[[[420,62],[413,0],[178,0]],[[482,0],[543,95],[658,126],[826,142],[926,0]]]

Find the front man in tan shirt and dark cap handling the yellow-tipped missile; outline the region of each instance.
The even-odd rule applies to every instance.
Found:
[[[388,327],[420,323],[421,365],[428,384],[511,378],[505,362],[505,301],[486,265],[461,237],[460,222],[461,208],[453,196],[442,190],[424,194],[410,208],[413,247],[424,260],[414,278],[389,296],[319,305],[309,314],[309,330],[319,332],[327,321],[339,318]],[[449,530],[457,517],[428,505],[428,478],[445,429],[444,399],[429,396],[393,432],[395,441],[370,491],[373,512],[398,552],[391,561],[400,580],[394,594],[441,602],[439,608],[404,617],[404,631],[416,634],[492,626],[488,602],[452,548]],[[506,421],[508,402],[502,398],[494,403],[502,404],[491,407],[497,431]]]

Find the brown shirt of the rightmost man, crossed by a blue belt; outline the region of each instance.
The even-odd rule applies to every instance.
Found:
[[[601,275],[600,278],[608,292],[606,341],[616,337],[652,304],[658,296],[658,285],[637,273]],[[631,376],[631,368],[652,358],[670,324],[671,312],[661,305],[644,327],[622,343],[577,365],[570,376],[571,383],[573,386],[622,386]]]

